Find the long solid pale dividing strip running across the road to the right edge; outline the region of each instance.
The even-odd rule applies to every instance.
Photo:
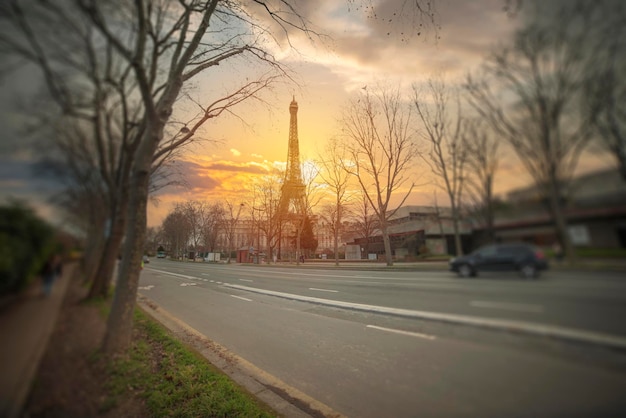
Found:
[[[252,293],[280,297],[283,299],[297,300],[301,302],[315,303],[318,305],[332,306],[336,308],[352,309],[370,313],[382,313],[387,315],[401,316],[405,318],[428,319],[459,325],[471,325],[480,328],[509,331],[520,334],[535,335],[560,339],[564,341],[596,345],[620,351],[626,351],[626,338],[617,335],[604,334],[593,331],[579,330],[575,328],[558,327],[554,325],[542,325],[530,322],[521,322],[504,319],[491,319],[438,312],[415,311],[401,308],[389,308],[385,306],[365,305],[361,303],[342,302],[331,299],[322,299],[311,296],[294,295],[291,293],[276,292],[273,290],[257,289],[254,287],[236,284],[224,284],[223,286],[243,290]]]

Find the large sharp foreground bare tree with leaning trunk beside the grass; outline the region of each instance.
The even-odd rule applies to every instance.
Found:
[[[263,31],[263,28],[236,2],[198,0],[191,4],[148,4],[137,1],[128,10],[108,2],[80,1],[78,6],[107,44],[132,66],[144,109],[144,129],[133,154],[129,184],[124,249],[128,257],[120,264],[118,287],[103,343],[105,352],[116,353],[125,349],[131,338],[141,258],[137,249],[142,247],[144,237],[152,163],[159,155],[167,154],[168,148],[188,140],[201,123],[219,114],[219,110],[214,112],[211,107],[207,108],[197,124],[183,127],[168,141],[166,126],[183,86],[198,74],[238,56],[266,63],[279,72],[281,67],[267,51],[256,45],[257,37],[251,32],[237,33],[240,29]],[[281,17],[282,12],[275,11],[274,16]],[[297,15],[296,22],[304,24]],[[133,31],[119,31],[120,25]],[[269,73],[269,77],[274,74]],[[266,86],[267,82],[260,85]],[[229,96],[226,103],[238,103],[254,96],[255,87],[245,87],[232,98]]]

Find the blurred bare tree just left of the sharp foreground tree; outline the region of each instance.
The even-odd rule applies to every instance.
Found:
[[[141,106],[129,99],[136,87],[128,77],[130,64],[102,47],[102,37],[67,4],[9,1],[3,11],[10,30],[0,35],[0,47],[39,67],[48,97],[61,111],[54,114],[56,122],[45,125],[57,131],[52,145],[64,153],[60,160],[80,158],[100,177],[108,213],[95,228],[104,233],[89,237],[104,242],[96,246],[96,265],[87,279],[93,278],[89,297],[105,296],[123,238],[129,154],[140,131]],[[74,150],[66,136],[80,137]]]

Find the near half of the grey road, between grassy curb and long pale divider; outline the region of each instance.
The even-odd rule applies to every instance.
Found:
[[[144,273],[147,297],[348,416],[606,416],[625,407],[623,371],[443,332],[417,338],[406,321],[380,327],[406,333],[382,332],[367,315],[333,318],[306,303]]]

